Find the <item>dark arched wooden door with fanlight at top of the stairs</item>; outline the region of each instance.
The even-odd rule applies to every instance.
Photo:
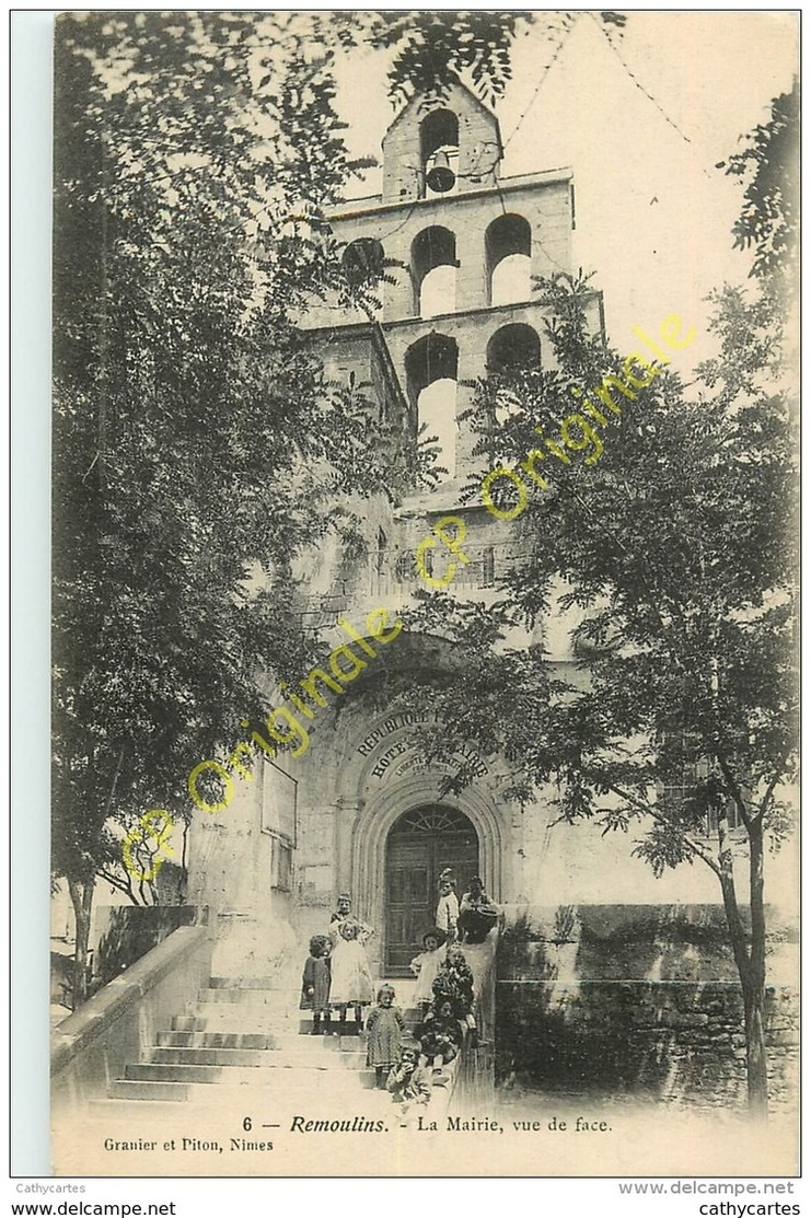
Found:
[[[453,867],[458,888],[479,872],[479,837],[464,812],[424,804],[392,825],[386,842],[386,974],[409,974],[420,937],[434,926],[437,879]]]

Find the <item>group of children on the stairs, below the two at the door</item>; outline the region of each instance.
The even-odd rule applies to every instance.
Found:
[[[309,957],[302,977],[302,1010],[313,1012],[313,1035],[346,1030],[347,1007],[354,1007],[356,1027],[362,1011],[371,1004],[374,985],[364,950],[373,934],[352,915],[348,894],[339,898],[330,933],[311,939]],[[443,1066],[459,1052],[465,1026],[475,1038],[472,1016],[474,977],[464,952],[448,944],[447,933],[435,927],[423,937],[423,951],[412,960],[416,974],[414,1005],[421,1021],[414,1039],[406,1029],[402,1010],[395,1005],[395,989],[379,988],[376,1005],[365,1022],[367,1065],[375,1071],[375,1084],[387,1089],[403,1106],[427,1104],[431,1086],[446,1080]],[[331,1021],[339,1012],[339,1024]]]

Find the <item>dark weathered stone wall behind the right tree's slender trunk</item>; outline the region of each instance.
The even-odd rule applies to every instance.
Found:
[[[793,938],[774,929],[770,950],[772,1108],[796,1104]],[[743,1002],[723,911],[566,906],[514,923],[498,961],[496,1077],[556,1096],[743,1105]]]

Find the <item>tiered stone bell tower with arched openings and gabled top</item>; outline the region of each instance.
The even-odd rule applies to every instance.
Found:
[[[402,519],[453,509],[470,513],[472,526],[462,492],[483,458],[465,418],[471,382],[554,367],[549,307],[535,287],[538,278],[571,272],[572,174],[504,177],[503,158],[498,119],[454,82],[441,96],[413,97],[392,121],[381,194],[330,216],[347,278],[375,281],[384,264],[386,275],[374,322],[346,307],[309,314],[321,325],[319,353],[336,378],[354,376],[379,397],[385,386],[379,418],[391,421],[393,449],[415,446],[421,428],[438,437],[441,482],[409,496]],[[597,292],[593,309],[597,330]],[[492,571],[490,559],[485,565]]]

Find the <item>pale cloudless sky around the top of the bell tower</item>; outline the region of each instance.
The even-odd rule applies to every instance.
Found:
[[[729,231],[742,189],[715,163],[767,118],[772,97],[790,89],[796,17],[628,12],[619,46],[630,72],[689,143],[634,85],[595,18],[583,12],[546,76],[554,43],[539,29],[516,43],[514,82],[497,107],[507,143],[502,177],[574,168],[575,267],[597,272],[610,339],[630,351],[633,325],[655,330],[661,318],[679,313],[699,330],[689,368],[712,347],[703,298],[725,280],[745,279],[750,266],[732,250]],[[380,156],[393,114],[385,72],[380,54],[354,52],[341,65],[337,105],[357,155]],[[371,171],[353,194],[379,190],[380,172]]]

